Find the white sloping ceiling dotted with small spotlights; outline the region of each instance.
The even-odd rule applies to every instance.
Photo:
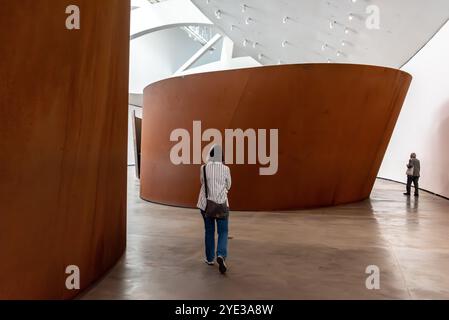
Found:
[[[449,19],[449,0],[192,2],[235,42],[235,56],[250,55],[265,65],[335,62],[399,68]],[[379,29],[366,27],[371,5],[379,8]]]

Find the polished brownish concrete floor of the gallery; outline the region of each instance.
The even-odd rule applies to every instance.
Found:
[[[449,299],[449,201],[378,180],[371,199],[296,212],[232,212],[229,272],[204,264],[197,210],[138,197],[128,249],[83,299]],[[367,266],[380,270],[368,290]]]

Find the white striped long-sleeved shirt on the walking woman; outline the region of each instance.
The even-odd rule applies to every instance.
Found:
[[[201,166],[201,189],[197,207],[206,210],[206,192],[204,188],[203,166]],[[208,162],[206,164],[208,199],[216,203],[226,203],[229,207],[228,191],[231,189],[231,171],[221,162]]]

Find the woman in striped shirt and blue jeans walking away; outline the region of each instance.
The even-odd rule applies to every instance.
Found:
[[[198,208],[204,220],[206,260],[208,265],[214,265],[215,258],[215,222],[217,223],[218,244],[217,263],[221,273],[227,270],[226,257],[228,255],[228,222],[229,218],[212,219],[206,217],[206,192],[204,169],[206,166],[206,181],[208,198],[216,203],[226,203],[229,207],[228,191],[231,188],[231,171],[223,164],[223,152],[221,146],[215,144],[209,151],[209,158],[205,165],[201,166],[200,181],[201,189],[198,197]]]

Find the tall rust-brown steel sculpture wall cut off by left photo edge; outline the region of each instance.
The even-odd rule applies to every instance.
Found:
[[[124,252],[129,10],[0,0],[0,299],[71,298],[66,266],[83,289]]]

